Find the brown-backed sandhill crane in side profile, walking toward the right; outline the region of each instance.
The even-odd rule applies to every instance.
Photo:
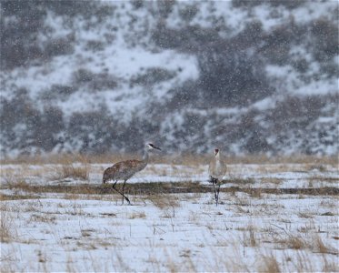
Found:
[[[107,167],[104,171],[104,176],[103,176],[103,184],[105,184],[109,180],[115,181],[113,184],[113,188],[123,196],[123,204],[124,204],[124,198],[130,205],[131,202],[129,199],[125,196],[125,183],[126,181],[133,177],[135,173],[140,172],[143,170],[148,163],[148,151],[149,150],[161,150],[159,147],[155,147],[152,143],[147,143],[145,145],[145,151],[144,151],[144,157],[142,160],[136,160],[136,159],[131,159],[131,160],[125,160],[121,162],[115,163],[112,167]],[[116,182],[118,180],[124,180],[124,185],[123,185],[123,192],[118,191],[115,188]]]

